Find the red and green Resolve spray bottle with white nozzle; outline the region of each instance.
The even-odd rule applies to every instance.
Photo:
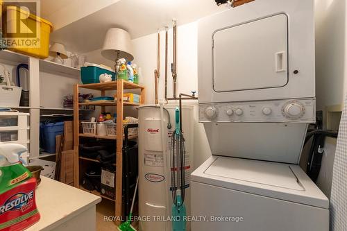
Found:
[[[0,144],[0,230],[24,230],[40,220],[35,202],[36,179],[22,165],[21,144]]]

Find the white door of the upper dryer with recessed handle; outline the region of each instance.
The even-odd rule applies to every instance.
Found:
[[[287,85],[287,15],[274,15],[215,31],[212,55],[215,92]]]

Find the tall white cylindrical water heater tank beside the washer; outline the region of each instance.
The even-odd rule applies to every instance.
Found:
[[[160,107],[155,105],[144,105],[139,107],[139,221],[142,231],[171,231],[171,177],[170,177],[170,139],[171,132],[175,129],[175,108],[177,105],[164,105],[169,115],[164,110],[164,129],[162,130],[162,119]],[[185,206],[187,216],[190,215],[190,172],[193,157],[193,135],[194,135],[194,108],[183,106],[182,127],[185,137],[186,150],[186,198]],[[170,117],[170,118],[169,118]],[[171,121],[172,128],[167,129],[167,123]],[[165,149],[162,146],[162,132],[164,132]],[[164,155],[167,155],[165,163]],[[149,221],[147,221],[149,218]],[[190,223],[187,223],[190,230]]]

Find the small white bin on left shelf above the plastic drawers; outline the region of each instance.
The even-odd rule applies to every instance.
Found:
[[[0,106],[8,108],[19,107],[22,87],[0,85]]]

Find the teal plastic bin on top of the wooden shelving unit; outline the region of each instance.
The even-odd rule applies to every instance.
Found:
[[[112,69],[105,69],[105,67],[92,63],[88,64],[86,67],[81,67],[81,80],[83,84],[100,83],[99,76],[101,74],[112,75],[112,80],[116,80],[116,74]]]

